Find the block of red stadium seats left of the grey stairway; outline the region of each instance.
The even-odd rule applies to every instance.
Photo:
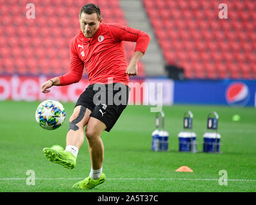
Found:
[[[34,0],[35,19],[27,19],[26,4],[12,0],[0,2],[0,74],[49,76],[69,69],[69,42],[80,31],[78,13],[87,1]],[[101,8],[103,22],[126,24],[118,0],[93,0]],[[125,42],[127,60],[134,43]],[[139,61],[138,76],[144,76]]]

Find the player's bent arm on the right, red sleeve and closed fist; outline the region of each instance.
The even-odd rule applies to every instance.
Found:
[[[132,59],[126,69],[126,74],[129,76],[136,76],[138,72],[137,63],[148,48],[150,40],[148,33],[121,24],[110,24],[109,28],[110,33],[115,40],[136,42]]]

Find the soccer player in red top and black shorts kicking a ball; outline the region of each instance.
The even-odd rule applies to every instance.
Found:
[[[100,136],[104,130],[109,132],[112,129],[126,108],[130,90],[129,76],[137,75],[137,63],[146,52],[149,35],[121,24],[104,23],[96,4],[85,4],[80,10],[79,21],[81,31],[72,38],[70,44],[69,72],[43,83],[41,92],[50,92],[51,86],[77,83],[84,68],[87,70],[90,85],[78,98],[69,119],[65,150],[46,147],[43,152],[53,163],[74,168],[86,135],[91,163],[90,174],[73,186],[86,190],[94,188],[106,179],[102,172],[104,146]],[[136,42],[128,65],[123,41]]]

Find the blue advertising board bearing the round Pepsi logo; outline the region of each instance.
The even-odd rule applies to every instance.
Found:
[[[175,104],[255,106],[255,80],[175,81]]]

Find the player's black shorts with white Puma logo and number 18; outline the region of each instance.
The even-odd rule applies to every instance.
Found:
[[[82,105],[92,113],[90,117],[101,120],[110,131],[126,108],[130,88],[123,83],[89,85],[80,95],[76,106]]]

